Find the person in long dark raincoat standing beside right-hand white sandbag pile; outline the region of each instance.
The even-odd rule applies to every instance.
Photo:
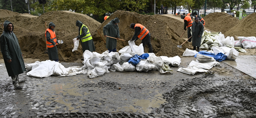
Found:
[[[204,33],[204,26],[202,22],[199,22],[199,18],[196,17],[195,21],[192,23],[192,46],[193,50],[196,50],[199,52],[199,48],[201,45],[201,39],[202,35]]]

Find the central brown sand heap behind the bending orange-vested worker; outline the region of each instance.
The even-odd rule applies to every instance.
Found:
[[[177,45],[181,45],[185,40],[180,38],[183,33],[183,23],[179,20],[166,17],[163,15],[141,15],[136,12],[130,11],[116,11],[106,21],[104,21],[98,28],[101,35],[103,36],[103,27],[108,24],[112,19],[118,17],[120,23],[118,23],[120,30],[120,39],[126,41],[117,41],[117,51],[128,45],[128,41],[132,38],[134,30],[130,28],[131,23],[139,23],[145,26],[151,34],[151,44],[153,52],[156,56],[168,56],[173,57],[176,55],[181,56],[188,46],[183,44],[182,48],[178,48]],[[183,34],[183,37],[187,37],[187,34]],[[106,46],[102,41],[98,32],[92,33],[94,40],[101,41],[95,44],[96,51],[98,53],[104,52]],[[105,40],[105,38],[104,38]],[[139,46],[140,40],[136,41],[135,44]],[[102,46],[102,47],[100,47]],[[148,47],[145,48],[145,53],[148,53]]]

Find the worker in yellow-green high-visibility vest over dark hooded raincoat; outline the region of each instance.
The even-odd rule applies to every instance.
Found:
[[[85,50],[89,50],[91,52],[95,51],[94,42],[92,40],[92,35],[87,26],[85,26],[81,21],[76,21],[76,26],[79,27],[79,35],[76,37],[76,40],[80,39],[83,53]],[[84,59],[84,58],[83,58]]]

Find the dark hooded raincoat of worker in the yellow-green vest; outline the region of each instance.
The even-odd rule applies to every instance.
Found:
[[[82,42],[81,38],[83,38],[84,36],[86,36],[86,33],[88,31],[88,28],[86,28],[85,26],[83,26],[83,23],[79,20],[76,21],[76,26],[79,27],[78,29],[78,36],[76,38],[80,39],[80,42],[81,42],[81,45],[82,45],[82,49],[83,49],[83,52],[85,50],[89,50],[91,52],[95,51],[95,47],[94,47],[94,42],[93,40],[89,40],[89,41],[85,41],[85,42]],[[81,27],[83,26],[82,28],[82,34],[80,35],[80,30],[81,30]]]

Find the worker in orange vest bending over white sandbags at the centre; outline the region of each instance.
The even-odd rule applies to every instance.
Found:
[[[148,29],[145,26],[142,26],[141,24],[134,24],[134,23],[130,25],[130,28],[135,30],[134,35],[130,41],[136,41],[140,39],[143,45],[143,48],[145,49],[145,45],[147,45],[149,49],[149,53],[153,53],[153,48],[150,43],[150,33]]]

